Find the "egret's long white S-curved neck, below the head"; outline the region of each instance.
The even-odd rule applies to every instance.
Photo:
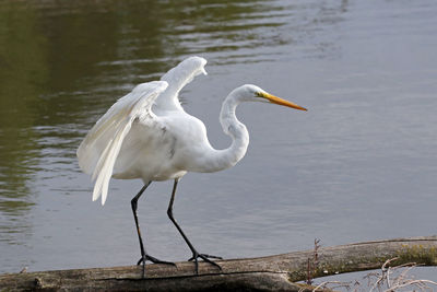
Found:
[[[235,110],[240,102],[239,95],[234,92],[223,102],[220,122],[222,124],[223,131],[231,136],[232,144],[227,149],[211,149],[210,152],[205,153],[201,172],[217,172],[232,167],[245,156],[247,147],[249,145],[249,132],[235,115]]]

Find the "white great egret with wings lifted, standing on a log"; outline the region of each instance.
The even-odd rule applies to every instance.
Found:
[[[78,149],[79,165],[96,180],[93,201],[102,197],[102,205],[105,203],[110,177],[143,180],[144,186],[131,200],[141,249],[138,265],[143,264],[143,275],[145,260],[173,264],[150,256],[141,237],[138,199],[151,182],[174,179],[167,214],[192,252],[189,260],[194,260],[196,272],[199,273],[198,258],[220,268],[210,260],[220,257],[198,253],[173,217],[179,178],[187,172],[218,172],[243,159],[249,144],[249,133],[235,116],[239,103],[273,103],[306,110],[256,85],[239,86],[225,98],[220,114],[223,131],[231,136],[232,144],[216,150],[208,140],[203,122],[187,114],[178,100],[180,90],[187,83],[200,73],[206,74],[205,63],[203,58],[190,57],[165,73],[161,81],[137,85],[97,120]]]

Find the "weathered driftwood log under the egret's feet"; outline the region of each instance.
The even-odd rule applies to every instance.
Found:
[[[317,262],[314,262],[316,258]],[[416,262],[437,266],[437,236],[365,242],[283,255],[218,260],[222,271],[192,262],[8,273],[0,276],[0,291],[311,291],[296,284],[311,278]],[[318,290],[322,291],[322,290]],[[324,290],[328,291],[328,290]]]

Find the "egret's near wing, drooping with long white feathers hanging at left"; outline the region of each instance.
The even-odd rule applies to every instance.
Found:
[[[84,173],[93,176],[93,180],[96,179],[93,201],[102,195],[102,205],[105,203],[114,164],[132,121],[144,113],[155,117],[151,110],[152,105],[167,86],[165,81],[137,85],[97,120],[80,144],[76,153],[79,165]]]

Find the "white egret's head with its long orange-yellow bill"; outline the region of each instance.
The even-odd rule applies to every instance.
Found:
[[[265,92],[264,90],[258,87],[257,85],[246,84],[236,89],[235,91],[236,91],[235,93],[239,96],[239,100],[241,102],[270,103],[270,104],[288,106],[299,110],[307,110],[305,107],[302,107],[295,103],[274,96]]]

